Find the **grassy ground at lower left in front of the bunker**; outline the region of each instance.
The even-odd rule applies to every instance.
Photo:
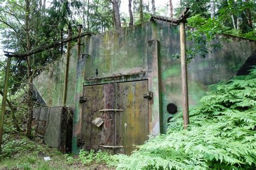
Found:
[[[39,144],[39,141],[19,135],[15,138],[9,142],[9,146],[12,145],[10,154],[0,157],[0,169],[110,169],[104,164],[83,165],[78,156],[62,154],[56,148]],[[16,144],[20,145],[12,148]],[[45,161],[44,157],[50,157],[50,160]]]

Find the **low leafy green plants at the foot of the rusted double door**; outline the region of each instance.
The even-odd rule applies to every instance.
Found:
[[[112,157],[103,151],[95,152],[91,150],[88,152],[82,149],[79,152],[79,159],[83,165],[112,163]]]

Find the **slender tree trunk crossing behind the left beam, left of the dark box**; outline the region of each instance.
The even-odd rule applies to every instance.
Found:
[[[26,0],[26,7],[25,7],[25,26],[26,26],[26,50],[29,51],[31,49],[30,44],[30,28],[29,28],[29,15],[30,15],[30,0]],[[28,56],[26,58],[27,68],[28,68],[28,119],[26,124],[26,137],[31,138],[31,129],[32,129],[32,110],[33,110],[33,102],[32,102],[32,95],[33,95],[33,78],[32,78],[32,70],[31,70],[31,57]]]

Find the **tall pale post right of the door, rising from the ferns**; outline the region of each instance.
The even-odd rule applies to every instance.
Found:
[[[179,23],[180,28],[180,59],[181,59],[181,86],[183,99],[183,124],[184,129],[190,123],[188,117],[188,90],[187,90],[187,57],[186,57],[186,33],[185,21]]]

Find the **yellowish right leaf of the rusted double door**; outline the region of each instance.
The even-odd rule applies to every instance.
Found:
[[[119,145],[124,146],[124,153],[130,154],[136,146],[142,145],[149,135],[147,80],[117,84],[118,103],[123,112],[119,113],[116,126]]]

